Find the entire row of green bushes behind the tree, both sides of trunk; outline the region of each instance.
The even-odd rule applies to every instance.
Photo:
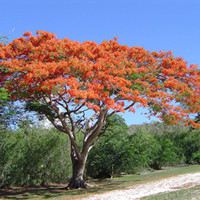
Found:
[[[162,123],[128,127],[115,115],[104,131],[89,154],[86,177],[200,163],[199,129]],[[21,122],[16,130],[1,130],[0,187],[66,183],[70,174],[70,145],[64,134],[29,122]]]

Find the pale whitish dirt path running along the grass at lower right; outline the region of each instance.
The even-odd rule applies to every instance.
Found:
[[[104,194],[87,197],[87,200],[134,200],[161,192],[175,191],[200,185],[200,173],[184,174],[159,181],[129,187],[126,190],[114,190]],[[85,200],[86,200],[85,199]]]

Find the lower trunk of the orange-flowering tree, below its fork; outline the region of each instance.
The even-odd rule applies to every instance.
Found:
[[[71,150],[71,161],[72,161],[72,177],[67,186],[69,189],[86,188],[84,180],[84,171],[87,155],[82,155],[78,158],[73,150]]]

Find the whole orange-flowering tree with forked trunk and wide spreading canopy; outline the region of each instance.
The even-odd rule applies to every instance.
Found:
[[[200,72],[171,52],[58,39],[38,31],[0,47],[1,82],[13,100],[44,114],[71,142],[70,188],[85,187],[88,152],[109,116],[138,107],[167,123],[200,110]],[[133,119],[134,122],[134,119]],[[83,134],[82,147],[77,133]]]

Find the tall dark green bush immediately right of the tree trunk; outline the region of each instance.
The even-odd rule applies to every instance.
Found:
[[[123,118],[114,115],[109,119],[105,133],[89,154],[86,167],[88,176],[106,178],[122,171],[127,155],[123,146],[127,131]]]

